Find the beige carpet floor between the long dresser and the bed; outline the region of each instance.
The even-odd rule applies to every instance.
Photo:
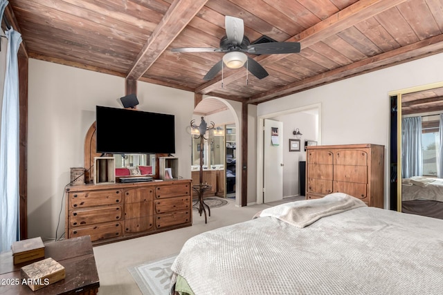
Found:
[[[278,203],[299,199],[287,198]],[[129,268],[177,254],[186,240],[192,236],[211,229],[251,220],[255,213],[270,205],[273,204],[235,207],[235,202],[228,200],[228,204],[211,209],[211,216],[208,217],[207,224],[205,224],[204,216],[199,216],[198,212],[193,211],[192,227],[94,247],[93,251],[100,278],[99,294],[142,295],[134,278],[129,273]]]

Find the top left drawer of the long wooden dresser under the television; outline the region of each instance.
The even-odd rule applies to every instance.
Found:
[[[93,207],[98,205],[119,204],[123,194],[120,189],[102,191],[80,191],[69,193],[69,204],[72,209]]]

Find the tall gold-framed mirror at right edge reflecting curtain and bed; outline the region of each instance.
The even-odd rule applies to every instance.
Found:
[[[443,82],[389,97],[390,209],[443,219]]]

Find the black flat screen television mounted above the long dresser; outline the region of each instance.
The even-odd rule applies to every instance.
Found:
[[[96,106],[97,153],[175,153],[174,115]]]

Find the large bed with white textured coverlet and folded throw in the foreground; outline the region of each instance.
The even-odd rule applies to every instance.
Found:
[[[332,193],[190,238],[170,294],[442,294],[443,220]]]

